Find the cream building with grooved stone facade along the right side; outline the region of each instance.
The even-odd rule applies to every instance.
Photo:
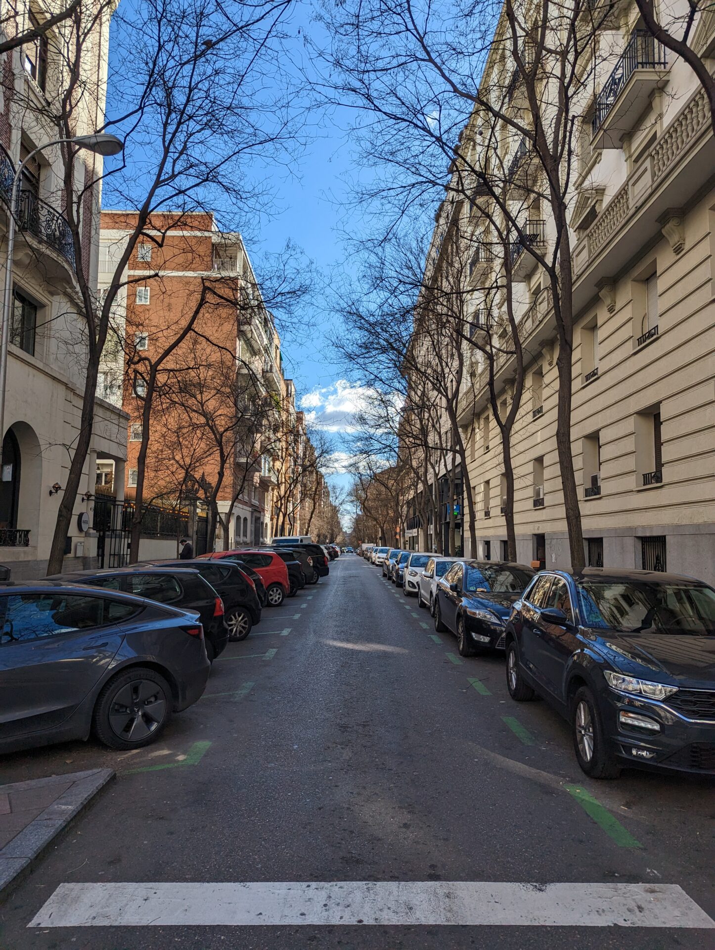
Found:
[[[683,10],[685,12],[685,5]],[[675,5],[670,12],[678,14]],[[504,22],[499,30],[504,30]],[[593,566],[670,570],[715,580],[715,142],[706,97],[685,63],[649,37],[633,3],[616,5],[597,37],[576,110],[583,116],[569,194],[574,269],[572,454]],[[712,65],[715,18],[702,14],[692,45]],[[513,70],[495,46],[482,86],[502,88]],[[586,68],[586,67],[584,67]],[[518,74],[509,95],[515,108]],[[555,442],[559,376],[554,301],[530,247],[553,246],[554,221],[539,197],[528,148],[491,130],[476,111],[462,142],[483,167],[505,170],[530,241],[512,243],[514,309],[525,386],[512,433],[517,558],[569,567]],[[495,155],[490,158],[490,149]],[[530,177],[530,178],[529,178]],[[517,188],[520,189],[517,192]],[[437,218],[427,276],[444,257],[445,235],[489,220],[479,205],[448,198]],[[482,199],[483,206],[483,199]],[[489,216],[487,216],[488,218]],[[488,246],[484,237],[481,247]],[[477,255],[475,314],[499,309],[499,255]],[[488,275],[494,276],[494,284]],[[499,291],[494,288],[501,281]],[[475,317],[477,322],[477,319]],[[494,380],[499,406],[514,398],[516,357],[499,316]],[[498,341],[499,342],[499,341]],[[460,426],[467,445],[478,544],[465,553],[506,555],[504,466],[490,405],[489,370],[464,345]],[[461,481],[458,480],[458,481]]]

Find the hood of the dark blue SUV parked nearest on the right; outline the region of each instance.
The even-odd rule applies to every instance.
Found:
[[[649,671],[657,672],[672,676],[684,686],[715,688],[715,637],[603,630],[591,633],[623,673],[648,678]]]

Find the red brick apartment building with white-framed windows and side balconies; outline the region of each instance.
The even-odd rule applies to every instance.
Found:
[[[136,224],[136,212],[103,212],[100,289]],[[216,546],[226,531],[229,545],[270,540],[286,383],[280,338],[240,235],[219,231],[210,214],[154,216],[122,282],[101,372],[105,398],[128,416],[117,482],[129,493],[137,485],[143,400],[160,364],[144,501],[206,499],[220,481]]]

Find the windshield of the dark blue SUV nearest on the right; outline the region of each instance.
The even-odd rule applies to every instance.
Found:
[[[715,591],[679,583],[583,580],[578,584],[588,626],[620,633],[715,635]]]

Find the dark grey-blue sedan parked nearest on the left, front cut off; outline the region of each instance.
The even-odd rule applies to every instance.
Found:
[[[87,739],[154,742],[204,691],[195,613],[59,581],[0,588],[0,751]]]

